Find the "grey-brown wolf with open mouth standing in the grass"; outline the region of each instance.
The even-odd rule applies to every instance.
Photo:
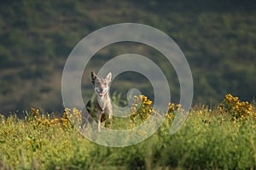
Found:
[[[107,77],[98,77],[94,71],[90,72],[90,79],[93,84],[93,89],[96,94],[96,98],[90,100],[83,110],[83,119],[82,119],[82,127],[84,126],[85,122],[92,122],[91,118],[88,118],[90,114],[91,117],[96,117],[98,121],[98,131],[101,131],[101,124],[104,122],[105,127],[107,126],[107,116],[108,113],[108,121],[110,123],[110,128],[112,127],[113,122],[113,105],[111,103],[111,99],[109,97],[109,87],[110,82],[112,79],[112,73],[109,72]],[[88,113],[84,113],[88,111]],[[87,118],[84,118],[84,115]]]

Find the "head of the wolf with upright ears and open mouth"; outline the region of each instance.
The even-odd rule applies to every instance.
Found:
[[[107,77],[104,77],[104,78],[98,77],[93,71],[90,72],[91,82],[93,84],[93,88],[97,96],[102,97],[108,93],[111,77],[112,77],[111,72],[109,72]]]

